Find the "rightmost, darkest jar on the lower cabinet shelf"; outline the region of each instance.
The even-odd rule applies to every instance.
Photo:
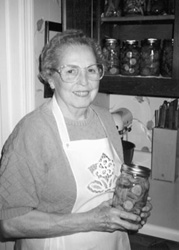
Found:
[[[172,76],[173,42],[173,39],[163,40],[161,75],[164,77]]]

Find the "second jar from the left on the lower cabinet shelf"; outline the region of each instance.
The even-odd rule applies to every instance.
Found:
[[[136,76],[140,72],[140,48],[137,40],[123,41],[120,52],[121,75]]]

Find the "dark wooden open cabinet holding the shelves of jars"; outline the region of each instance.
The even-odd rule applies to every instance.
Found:
[[[102,43],[105,37],[119,40],[144,38],[174,38],[173,72],[171,78],[126,77],[105,75],[101,80],[101,93],[153,97],[179,97],[179,1],[175,0],[175,14],[163,16],[102,17],[104,9],[97,0],[97,36]]]

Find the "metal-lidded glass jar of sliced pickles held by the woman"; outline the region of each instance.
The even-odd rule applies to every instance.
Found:
[[[139,214],[147,202],[150,171],[143,166],[123,164],[121,175],[116,182],[113,206]]]

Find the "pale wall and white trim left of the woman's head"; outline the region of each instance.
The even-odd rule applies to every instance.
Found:
[[[0,150],[17,122],[44,101],[37,79],[44,20],[61,22],[61,0],[0,0]],[[12,242],[0,243],[0,250],[12,249]]]

